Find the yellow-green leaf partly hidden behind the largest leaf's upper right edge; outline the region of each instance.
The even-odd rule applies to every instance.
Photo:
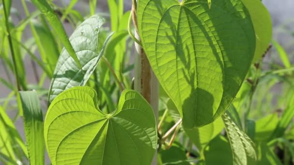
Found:
[[[272,21],[269,12],[261,0],[241,0],[250,13],[256,35],[256,47],[253,62],[265,54],[272,39]]]

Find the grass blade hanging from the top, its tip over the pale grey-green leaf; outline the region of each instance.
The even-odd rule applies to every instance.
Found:
[[[59,17],[54,13],[53,9],[48,4],[47,0],[30,0],[46,17],[53,30],[58,34],[59,39],[63,43],[69,55],[73,58],[78,68],[81,68],[78,56],[75,54],[71,42],[69,41],[66,32],[59,20]]]

